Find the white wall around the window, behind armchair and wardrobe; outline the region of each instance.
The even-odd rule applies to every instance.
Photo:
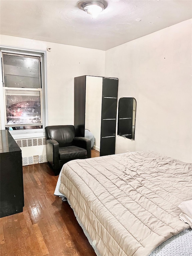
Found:
[[[0,36],[1,45],[47,52],[48,125],[73,125],[74,77],[104,76],[105,51],[55,44],[7,35]]]

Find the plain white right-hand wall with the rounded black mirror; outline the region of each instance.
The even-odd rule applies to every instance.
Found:
[[[105,76],[120,97],[137,100],[135,141],[116,137],[116,153],[151,150],[192,161],[191,20],[106,51]]]

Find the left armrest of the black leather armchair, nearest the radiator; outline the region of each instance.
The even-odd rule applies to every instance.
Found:
[[[46,140],[47,160],[54,169],[59,168],[59,143],[56,140]]]

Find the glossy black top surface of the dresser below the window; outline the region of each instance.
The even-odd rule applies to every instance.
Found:
[[[9,131],[0,130],[0,153],[21,151]]]

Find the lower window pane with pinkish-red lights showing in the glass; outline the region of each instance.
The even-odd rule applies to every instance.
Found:
[[[6,126],[41,124],[40,91],[5,90]]]

